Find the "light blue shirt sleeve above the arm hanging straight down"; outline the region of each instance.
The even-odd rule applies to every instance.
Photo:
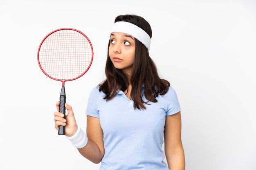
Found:
[[[180,111],[180,103],[173,87],[169,87],[167,92],[167,109],[166,116],[173,115]]]

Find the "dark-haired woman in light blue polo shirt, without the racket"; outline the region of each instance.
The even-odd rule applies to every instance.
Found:
[[[100,170],[185,169],[179,101],[149,57],[151,36],[143,17],[115,18],[106,80],[92,89],[88,99],[86,134],[67,103],[66,119],[54,112],[55,128],[65,126],[73,146],[93,163],[101,162]],[[59,110],[59,102],[56,107]]]

